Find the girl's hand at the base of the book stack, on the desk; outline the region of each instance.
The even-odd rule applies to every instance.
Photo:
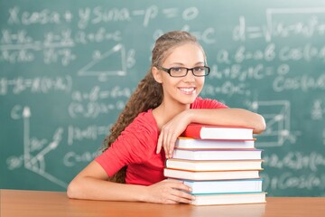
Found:
[[[147,186],[144,201],[149,203],[190,203],[194,196],[190,187],[178,180],[165,179]]]

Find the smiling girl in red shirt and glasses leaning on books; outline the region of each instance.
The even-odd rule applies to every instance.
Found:
[[[209,67],[190,33],[163,34],[152,54],[150,70],[111,128],[105,151],[71,181],[70,198],[190,203],[195,198],[188,186],[163,177],[164,161],[190,122],[254,127],[255,134],[265,129],[258,114],[198,97]]]

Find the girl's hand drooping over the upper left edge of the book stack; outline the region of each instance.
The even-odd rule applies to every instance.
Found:
[[[181,112],[162,127],[158,138],[157,154],[161,152],[163,147],[166,158],[172,157],[172,152],[177,137],[179,137],[185,128],[190,124],[188,111],[189,110],[185,110]]]

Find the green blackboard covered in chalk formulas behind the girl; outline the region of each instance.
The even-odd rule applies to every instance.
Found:
[[[1,1],[1,188],[65,191],[98,155],[153,43],[186,30],[201,96],[256,111],[269,196],[325,196],[324,1]]]

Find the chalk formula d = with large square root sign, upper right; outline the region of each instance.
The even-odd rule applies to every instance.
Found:
[[[265,26],[248,25],[246,17],[240,16],[234,28],[234,41],[255,40],[259,38],[270,42],[274,37],[288,38],[300,35],[302,37],[321,36],[325,34],[325,22],[318,15],[324,17],[325,8],[268,8],[265,11]],[[292,24],[282,20],[283,17],[297,17]],[[302,18],[303,17],[303,18]]]

